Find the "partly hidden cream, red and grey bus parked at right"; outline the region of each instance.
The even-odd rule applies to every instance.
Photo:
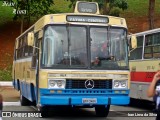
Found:
[[[147,97],[147,89],[155,72],[160,70],[160,28],[134,34],[137,48],[130,53],[130,97],[153,101]]]

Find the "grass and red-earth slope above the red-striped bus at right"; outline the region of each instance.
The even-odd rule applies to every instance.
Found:
[[[126,18],[128,30],[131,33],[148,30],[148,0],[127,0],[128,9],[121,12],[121,17]],[[155,28],[160,27],[160,1],[155,3]]]

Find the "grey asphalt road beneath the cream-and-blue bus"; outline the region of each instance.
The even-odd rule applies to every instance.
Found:
[[[50,112],[48,118],[32,117],[30,113],[35,112],[35,108],[32,106],[4,106],[3,111],[12,112],[13,115],[11,118],[3,117],[3,120],[155,120],[155,114],[152,114],[150,109],[132,106],[111,106],[109,117],[107,118],[96,117],[93,108],[56,109]],[[16,111],[21,113],[20,116],[23,117],[17,117],[18,115],[13,114]],[[145,113],[150,117],[137,117]]]

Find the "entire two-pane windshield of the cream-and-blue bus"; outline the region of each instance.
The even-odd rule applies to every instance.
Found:
[[[42,67],[128,69],[126,30],[49,25],[44,32]]]

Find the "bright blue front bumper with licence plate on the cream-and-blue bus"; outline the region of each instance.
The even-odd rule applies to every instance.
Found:
[[[129,96],[41,96],[41,105],[127,105],[130,102]]]

